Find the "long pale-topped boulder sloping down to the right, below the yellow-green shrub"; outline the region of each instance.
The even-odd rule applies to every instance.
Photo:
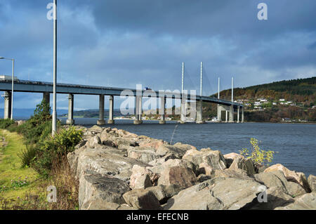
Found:
[[[290,171],[289,169],[287,169],[287,167],[283,166],[282,164],[275,164],[273,166],[270,166],[263,172],[267,173],[271,171],[282,171],[284,173],[285,178],[287,178],[288,181],[298,183],[305,189],[306,192],[310,192],[308,180],[306,179],[304,173]]]

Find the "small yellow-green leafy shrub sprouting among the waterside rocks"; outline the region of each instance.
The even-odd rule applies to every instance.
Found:
[[[243,148],[242,150],[239,151],[240,154],[242,154],[244,157],[247,157],[247,159],[252,159],[255,164],[266,163],[267,166],[269,166],[269,163],[272,162],[273,155],[276,152],[271,151],[271,150],[269,151],[261,150],[258,145],[259,141],[256,138],[251,138],[250,143],[251,143],[251,152],[249,152],[248,149]]]

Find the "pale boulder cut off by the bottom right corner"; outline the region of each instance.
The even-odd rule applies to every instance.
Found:
[[[316,192],[302,195],[287,206],[277,207],[276,210],[316,210]]]

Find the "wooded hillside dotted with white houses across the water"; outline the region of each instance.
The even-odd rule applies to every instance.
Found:
[[[220,98],[230,100],[231,93],[230,89],[221,91]],[[217,97],[217,93],[212,96]],[[245,121],[316,121],[316,108],[313,107],[316,105],[316,77],[235,88],[234,98],[246,105]],[[254,105],[255,102],[259,104]],[[217,116],[217,106],[214,104],[204,103],[203,110],[205,117]]]

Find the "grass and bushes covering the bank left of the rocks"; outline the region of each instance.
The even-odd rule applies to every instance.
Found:
[[[77,209],[78,183],[67,163],[83,132],[74,126],[51,136],[51,108],[43,101],[24,124],[0,119],[0,209]],[[16,131],[10,132],[10,131]],[[46,202],[55,185],[57,203]]]

